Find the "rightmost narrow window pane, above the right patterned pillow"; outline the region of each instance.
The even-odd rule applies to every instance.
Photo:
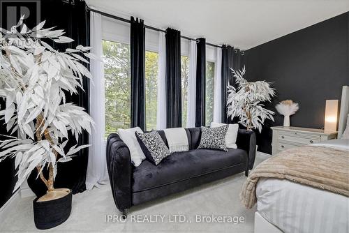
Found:
[[[206,61],[206,126],[214,120],[214,62]]]

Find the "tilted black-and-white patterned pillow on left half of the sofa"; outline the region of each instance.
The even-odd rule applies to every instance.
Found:
[[[161,160],[170,156],[168,146],[166,146],[156,130],[151,130],[149,133],[135,132],[135,137],[137,137],[145,157],[147,157],[151,163],[158,165]]]

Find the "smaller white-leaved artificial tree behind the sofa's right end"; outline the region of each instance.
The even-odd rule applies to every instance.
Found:
[[[248,130],[258,129],[261,132],[265,119],[274,121],[274,112],[267,110],[261,102],[270,102],[275,91],[265,81],[247,82],[244,79],[245,67],[242,70],[230,70],[238,87],[228,85],[228,117],[239,117],[239,123]]]

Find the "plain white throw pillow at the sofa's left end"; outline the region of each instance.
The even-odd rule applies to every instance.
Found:
[[[135,167],[138,167],[145,159],[145,155],[140,148],[137,137],[135,137],[135,132],[143,133],[140,127],[128,128],[126,130],[120,128],[117,130],[117,134],[130,150],[131,162],[133,165],[135,165]]]

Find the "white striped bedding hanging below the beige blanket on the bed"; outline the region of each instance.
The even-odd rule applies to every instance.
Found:
[[[348,197],[281,179],[260,179],[257,210],[283,232],[348,233]]]

